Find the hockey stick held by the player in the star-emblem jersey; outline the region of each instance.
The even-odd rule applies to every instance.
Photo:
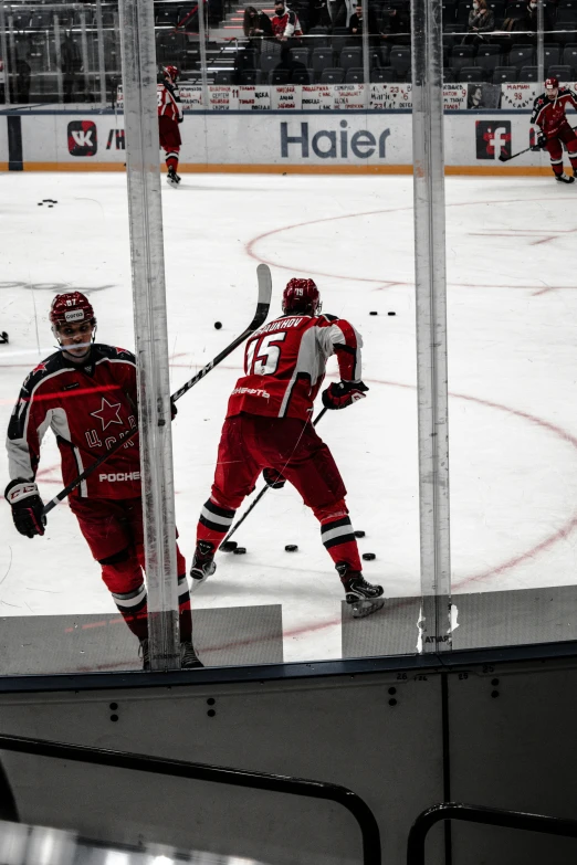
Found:
[[[221,362],[221,360],[224,360],[229,355],[231,355],[234,349],[241,345],[241,342],[244,342],[244,340],[254,333],[254,330],[258,330],[261,325],[264,324],[266,320],[266,316],[269,315],[269,308],[271,306],[271,294],[272,294],[272,279],[271,279],[271,271],[269,270],[269,266],[266,264],[259,264],[256,267],[256,277],[259,281],[259,299],[256,303],[256,310],[254,313],[254,317],[252,321],[250,323],[249,327],[242,331],[240,336],[237,337],[227,348],[224,348],[219,355],[217,355],[216,358],[213,358],[210,363],[207,363],[206,367],[202,367],[199,372],[197,372],[196,376],[193,376],[189,381],[187,381],[185,384],[182,384],[181,388],[179,388],[170,397],[171,402],[176,402],[180,399],[187,391],[190,390],[190,388],[193,388],[195,384],[197,384],[200,379],[203,379],[204,376],[207,376],[211,369],[213,369],[218,363]],[[87,468],[84,470],[71,484],[64,487],[64,489],[61,489],[61,492],[54,496],[54,498],[51,498],[50,502],[44,505],[43,514],[49,514],[52,508],[56,507],[56,505],[62,502],[63,498],[66,498],[70,493],[72,493],[73,489],[75,489],[80,484],[82,484],[83,481],[85,481],[88,475],[92,475],[93,472],[96,471],[96,468],[99,468],[103,463],[106,462],[114,453],[120,450],[130,439],[133,439],[138,433],[138,430],[133,430],[133,432],[129,435],[126,435],[124,439],[120,439],[118,442],[116,442],[115,445],[111,447],[111,450],[103,454],[98,460],[96,460],[95,463],[90,465]]]

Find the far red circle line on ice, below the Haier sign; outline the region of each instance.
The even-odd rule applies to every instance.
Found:
[[[523,199],[520,201],[518,199],[494,199],[494,200],[487,200],[487,201],[455,201],[450,204],[445,204],[447,208],[465,208],[465,207],[482,207],[484,204],[486,205],[495,205],[495,204],[520,204],[524,202],[529,201],[538,201],[539,203],[543,202],[543,198],[535,198],[535,199]],[[546,199],[546,203],[549,201],[566,201],[564,197],[554,197]],[[271,231],[265,231],[262,234],[258,234],[255,238],[252,238],[246,244],[245,250],[248,254],[251,256],[251,259],[254,259],[258,262],[262,262],[263,264],[267,264],[270,267],[277,267],[283,271],[291,271],[292,273],[306,273],[308,275],[313,276],[323,276],[328,279],[346,279],[349,282],[356,282],[356,283],[374,283],[375,288],[373,291],[379,291],[384,288],[392,288],[395,286],[402,286],[402,285],[415,285],[413,282],[408,282],[406,279],[376,279],[368,276],[345,276],[339,273],[325,273],[323,271],[316,271],[312,270],[311,267],[298,267],[298,263],[296,264],[283,264],[282,262],[275,262],[271,261],[270,259],[264,257],[263,255],[260,255],[255,247],[261,242],[269,238],[273,238],[275,234],[285,234],[288,231],[293,231],[294,229],[304,229],[308,225],[318,225],[324,222],[336,222],[338,220],[347,220],[347,219],[359,219],[361,217],[376,217],[380,215],[382,213],[401,213],[402,211],[411,211],[412,204],[408,204],[407,207],[402,208],[382,208],[378,210],[366,210],[361,211],[359,213],[339,213],[337,217],[319,217],[318,219],[312,219],[306,220],[305,222],[295,222],[292,225],[282,225],[277,229],[272,229]],[[511,231],[511,230],[510,230]],[[571,232],[575,231],[574,229],[570,230]],[[523,234],[523,230],[521,231]],[[526,233],[526,231],[525,231]],[[533,232],[532,232],[533,233]],[[564,232],[560,232],[564,233]],[[535,239],[531,245],[536,245],[538,243],[545,243],[548,240],[553,240],[556,232],[550,232],[547,234],[546,232],[543,232],[543,239],[537,240]],[[492,238],[500,236],[497,234],[491,234]],[[503,234],[503,236],[511,238],[511,233]],[[544,285],[543,282],[536,285],[497,285],[495,283],[449,283],[450,285],[459,285],[463,288],[522,288],[522,289],[533,289],[535,294],[545,294],[546,292],[559,289],[559,288],[575,288],[573,285]]]

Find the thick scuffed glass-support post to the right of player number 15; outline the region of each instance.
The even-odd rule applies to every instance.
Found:
[[[422,651],[450,647],[441,0],[412,0],[412,148]]]

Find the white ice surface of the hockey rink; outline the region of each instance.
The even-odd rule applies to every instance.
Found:
[[[3,436],[23,379],[53,350],[48,310],[55,293],[88,294],[97,341],[134,349],[134,328],[126,178],[10,172],[0,183],[0,330],[10,335],[10,344],[0,346]],[[559,188],[549,178],[447,179],[455,645],[577,635],[576,194],[575,187]],[[48,199],[56,203],[39,204]],[[360,551],[376,553],[365,576],[382,583],[388,599],[369,619],[345,622],[318,525],[287,485],[269,490],[237,532],[246,555],[219,553],[216,574],[193,594],[199,654],[206,664],[221,664],[415,651],[420,576],[412,179],[183,175],[178,189],[164,188],[162,201],[174,390],[250,321],[259,262],[273,276],[270,318],[281,312],[286,281],[311,276],[324,312],[361,333],[368,398],[327,413],[318,433],[340,467],[354,527],[366,532]],[[188,563],[241,365],[237,349],[178,403],[176,508]],[[335,361],[329,370],[336,376]],[[0,465],[3,489],[6,458]],[[62,486],[50,431],[38,481],[44,500]],[[0,537],[4,634],[11,620],[25,620],[23,645],[35,627],[50,626],[51,616],[67,622],[63,634],[90,625],[93,645],[127,632],[113,627],[115,606],[66,504],[49,516],[44,537],[29,540],[17,534],[2,503]],[[285,552],[287,544],[298,551]],[[222,613],[231,610],[237,619]],[[489,631],[480,632],[480,619]],[[499,634],[491,630],[500,625]],[[506,641],[500,636],[504,629]],[[8,661],[2,651],[1,672],[33,672],[19,668],[17,650]],[[78,668],[136,665],[135,650],[133,658],[120,652],[114,662],[81,651],[86,658]],[[67,662],[38,663],[39,672],[69,671]]]

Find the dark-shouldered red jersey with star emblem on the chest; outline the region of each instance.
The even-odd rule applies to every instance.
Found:
[[[12,481],[34,479],[42,439],[49,426],[56,436],[65,486],[136,429],[134,355],[123,348],[94,345],[86,360],[84,365],[74,363],[57,351],[25,379],[8,426]],[[130,439],[71,495],[139,496],[138,437]]]

